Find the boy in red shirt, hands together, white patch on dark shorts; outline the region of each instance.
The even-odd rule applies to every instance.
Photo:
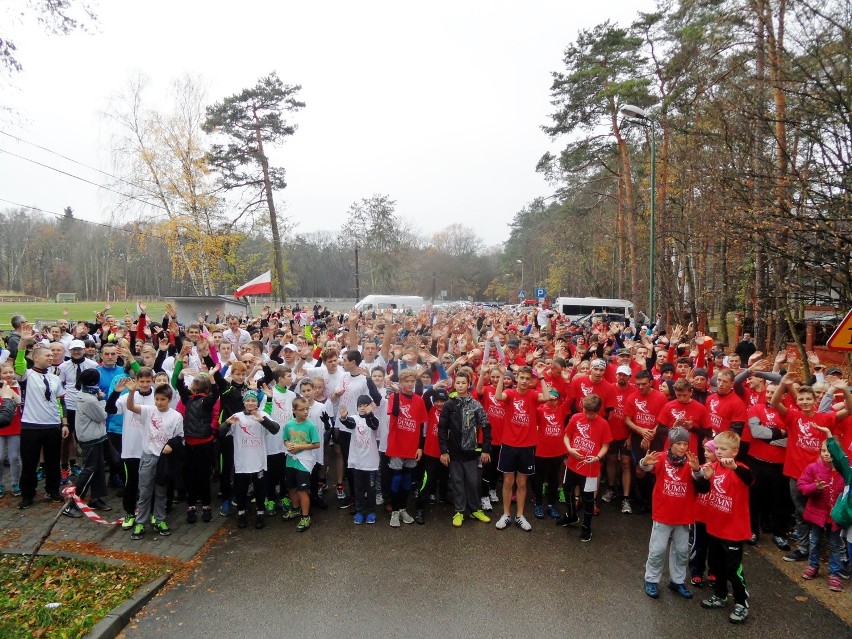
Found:
[[[581,403],[583,412],[573,415],[565,427],[565,447],[568,460],[565,470],[565,492],[568,512],[556,522],[559,526],[579,521],[574,503],[574,488],[580,486],[583,499],[583,527],[580,541],[592,539],[592,517],[595,513],[595,491],[601,474],[601,459],[606,457],[612,436],[609,424],[599,415],[603,402],[597,395],[588,395]]]

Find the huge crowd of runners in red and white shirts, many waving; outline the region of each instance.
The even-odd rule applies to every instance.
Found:
[[[677,596],[709,586],[702,606],[722,608],[730,584],[729,618],[745,621],[743,545],[764,537],[804,579],[825,554],[828,587],[849,578],[852,396],[812,353],[803,379],[748,335],[725,348],[692,325],[581,326],[543,308],[108,311],[38,330],[11,318],[0,497],[21,509],[41,481],[57,504],[73,485],[96,511],[120,499],[142,539],[170,534],[178,504],[188,524],[280,516],[303,532],[331,508],[422,525],[443,501],[454,515],[438,525],[549,522],[589,542],[616,500],[651,513],[649,597],[668,556]]]

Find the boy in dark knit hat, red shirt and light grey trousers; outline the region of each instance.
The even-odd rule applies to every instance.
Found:
[[[669,588],[686,599],[692,592],[686,587],[689,562],[689,527],[695,523],[695,492],[707,492],[710,485],[701,473],[698,456],[689,451],[689,432],[675,427],[669,431],[669,450],[649,451],[639,461],[645,472],[657,476],[654,485],[651,541],[645,563],[645,594],[660,596],[663,560],[669,546]]]

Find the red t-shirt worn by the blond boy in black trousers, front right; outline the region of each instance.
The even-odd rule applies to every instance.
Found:
[[[737,462],[739,466],[744,466]],[[728,541],[745,541],[751,537],[748,509],[748,486],[735,471],[713,462],[710,494],[704,510],[707,534]]]

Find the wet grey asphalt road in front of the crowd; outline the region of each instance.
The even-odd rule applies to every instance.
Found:
[[[431,506],[425,526],[392,529],[388,516],[357,527],[328,510],[305,533],[280,518],[257,531],[226,525],[199,567],[154,599],[128,639],[182,637],[852,637],[840,618],[753,549],[744,560],[751,615],[704,610],[663,588],[642,590],[650,518],[604,504],[593,539],[532,520],[450,524]],[[667,577],[664,575],[664,580]],[[664,581],[664,584],[667,581]],[[832,593],[852,605],[847,591]]]

